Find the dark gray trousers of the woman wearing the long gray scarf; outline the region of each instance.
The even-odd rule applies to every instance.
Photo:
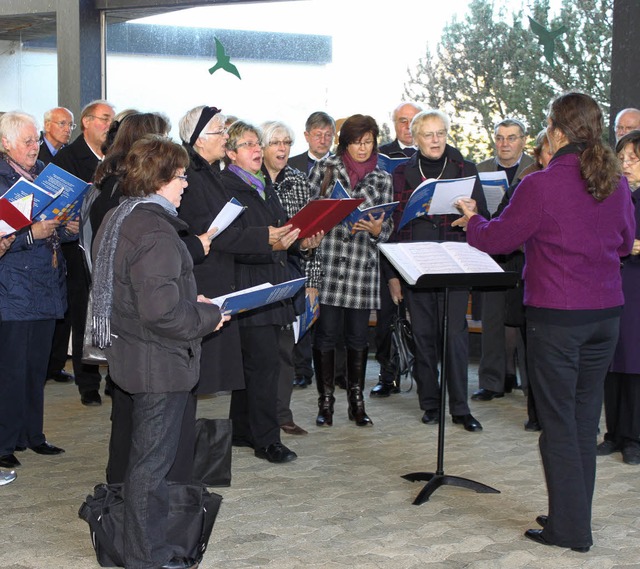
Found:
[[[124,505],[126,569],[157,569],[173,556],[166,540],[167,476],[176,460],[188,398],[186,391],[132,396],[131,450]],[[189,471],[192,469],[193,458]]]

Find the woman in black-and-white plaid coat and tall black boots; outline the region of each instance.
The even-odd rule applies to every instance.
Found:
[[[378,168],[378,125],[370,116],[353,115],[340,128],[335,156],[318,162],[309,182],[313,197],[328,197],[340,181],[352,198],[364,198],[361,207],[392,200],[391,176]],[[333,424],[336,345],[344,331],[347,348],[349,419],[364,427],[373,422],[362,396],[367,367],[369,315],[380,308],[378,243],[393,229],[391,219],[360,221],[350,231],[336,225],[318,249],[322,278],[320,318],[316,323],[313,365],[318,385],[316,425]]]

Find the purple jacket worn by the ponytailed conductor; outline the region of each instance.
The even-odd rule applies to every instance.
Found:
[[[577,154],[564,154],[526,176],[499,217],[472,217],[467,241],[490,254],[524,244],[527,306],[596,310],[624,304],[620,257],[631,251],[635,225],[626,178],[598,202]]]

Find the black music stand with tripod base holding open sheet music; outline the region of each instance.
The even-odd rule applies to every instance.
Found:
[[[405,474],[402,478],[410,482],[426,480],[420,493],[413,501],[415,506],[424,504],[429,500],[440,486],[458,486],[475,490],[481,494],[500,494],[491,486],[462,478],[460,476],[450,476],[444,473],[444,429],[446,420],[446,397],[447,397],[447,332],[449,327],[449,289],[460,287],[512,287],[518,282],[518,273],[460,273],[460,274],[430,274],[422,275],[414,285],[416,288],[443,288],[444,289],[444,315],[442,323],[442,351],[440,364],[440,420],[438,422],[438,463],[435,472],[412,472]]]

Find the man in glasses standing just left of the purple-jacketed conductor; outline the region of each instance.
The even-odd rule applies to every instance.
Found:
[[[511,185],[534,162],[531,156],[524,153],[526,128],[521,121],[506,118],[495,125],[494,133],[496,155],[480,162],[478,172],[503,170]],[[482,357],[478,369],[480,389],[471,396],[475,401],[491,401],[502,397],[505,391],[511,392],[517,383],[515,352],[519,330],[505,327],[505,303],[505,291],[482,293]]]

